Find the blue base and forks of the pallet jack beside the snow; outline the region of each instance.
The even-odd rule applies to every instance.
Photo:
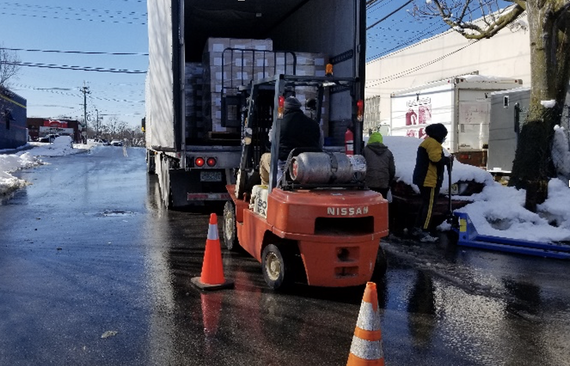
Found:
[[[453,214],[457,218],[457,225],[453,226],[453,230],[459,234],[458,245],[539,257],[570,259],[570,245],[480,235],[468,214],[463,212]]]

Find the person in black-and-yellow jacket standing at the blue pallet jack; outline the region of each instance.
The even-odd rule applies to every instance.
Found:
[[[429,231],[431,215],[443,183],[443,168],[449,166],[454,158],[443,154],[441,144],[447,136],[447,128],[443,124],[430,124],[425,132],[427,137],[418,147],[412,180],[420,188],[422,198],[412,234],[419,235],[422,242],[434,242],[438,238]]]

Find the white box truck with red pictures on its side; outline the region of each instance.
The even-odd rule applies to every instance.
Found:
[[[522,86],[521,79],[462,75],[394,92],[390,134],[425,137],[425,127],[447,127],[443,147],[465,163],[485,167],[489,144],[491,92]]]

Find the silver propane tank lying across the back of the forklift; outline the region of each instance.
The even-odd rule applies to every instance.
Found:
[[[289,174],[301,184],[349,183],[366,176],[362,155],[333,152],[306,152],[292,158]]]

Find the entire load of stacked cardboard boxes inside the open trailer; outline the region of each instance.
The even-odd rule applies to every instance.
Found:
[[[202,62],[185,65],[186,144],[205,139],[239,140],[238,111],[226,103],[237,95],[239,87],[276,74],[324,76],[327,61],[323,54],[274,51],[271,39],[207,39]],[[298,87],[295,93],[303,105],[317,96],[309,87]],[[327,111],[325,93],[320,121],[325,135]],[[222,119],[223,112],[230,117]]]

